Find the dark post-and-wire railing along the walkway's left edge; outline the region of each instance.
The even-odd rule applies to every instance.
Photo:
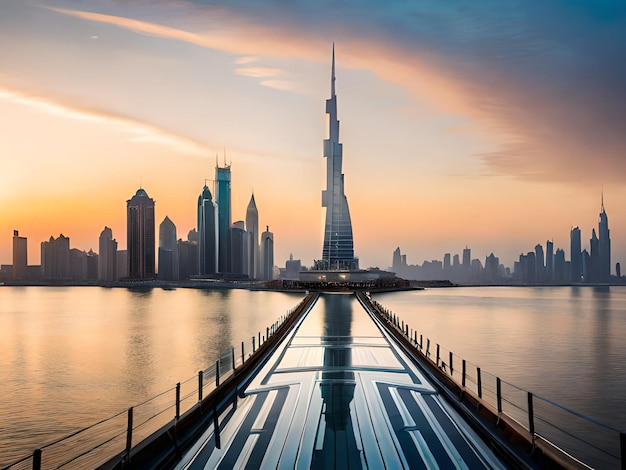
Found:
[[[306,300],[306,299],[305,299]],[[304,304],[303,300],[287,314],[282,315],[265,331],[252,336],[248,345],[231,347],[197,376],[161,392],[127,410],[109,416],[68,436],[36,449],[32,454],[3,467],[12,469],[95,468],[130,449],[164,425],[178,419],[220,383],[230,377]]]

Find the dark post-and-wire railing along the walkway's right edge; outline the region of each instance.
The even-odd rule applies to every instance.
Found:
[[[625,430],[601,423],[506,382],[418,334],[417,330],[370,297],[366,296],[365,301],[404,335],[418,356],[437,367],[463,393],[472,394],[498,419],[507,420],[516,429],[527,433],[533,449],[543,444],[573,457],[581,466],[626,469]]]

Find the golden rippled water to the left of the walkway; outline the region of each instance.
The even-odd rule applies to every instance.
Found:
[[[193,377],[302,299],[0,287],[0,466]]]

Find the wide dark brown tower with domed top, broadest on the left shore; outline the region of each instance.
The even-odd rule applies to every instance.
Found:
[[[154,200],[143,188],[139,188],[127,201],[126,240],[128,277],[137,280],[154,279],[156,275]]]

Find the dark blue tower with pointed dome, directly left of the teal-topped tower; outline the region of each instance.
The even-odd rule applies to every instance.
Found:
[[[217,272],[217,244],[217,210],[205,184],[198,197],[198,268],[201,276]]]

